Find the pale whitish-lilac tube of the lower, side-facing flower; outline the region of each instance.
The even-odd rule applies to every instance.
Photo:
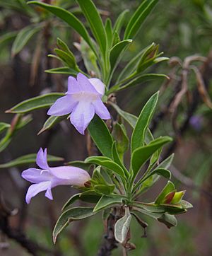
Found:
[[[90,175],[86,170],[73,166],[52,167],[50,168],[50,172],[54,175],[52,187],[57,185],[76,185],[83,187],[84,183],[90,180]]]

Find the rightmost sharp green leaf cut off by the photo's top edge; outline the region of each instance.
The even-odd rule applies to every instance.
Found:
[[[129,20],[124,33],[124,39],[133,38],[139,32],[143,21],[145,21],[148,14],[152,11],[158,0],[144,0],[137,8],[134,15]]]

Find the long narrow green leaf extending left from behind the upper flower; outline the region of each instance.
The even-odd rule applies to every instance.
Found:
[[[26,113],[33,110],[39,110],[41,108],[47,108],[50,107],[61,96],[64,96],[64,93],[48,93],[30,98],[18,103],[10,110],[6,110],[6,113]]]

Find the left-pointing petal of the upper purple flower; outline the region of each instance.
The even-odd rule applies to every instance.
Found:
[[[68,115],[71,113],[76,104],[77,101],[72,97],[72,95],[67,94],[66,96],[56,100],[52,107],[49,108],[47,115]]]

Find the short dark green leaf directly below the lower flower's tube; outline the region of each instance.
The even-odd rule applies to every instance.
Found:
[[[86,191],[78,194],[73,194],[73,196],[66,202],[66,204],[64,204],[62,211],[65,211],[71,204],[73,204],[77,200],[88,203],[97,203],[100,197],[101,195],[97,194],[95,191]]]

